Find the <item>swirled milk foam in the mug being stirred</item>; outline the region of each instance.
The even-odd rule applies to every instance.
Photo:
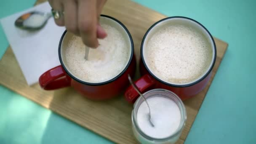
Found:
[[[71,73],[88,83],[111,80],[123,71],[130,58],[130,49],[124,36],[112,26],[101,24],[107,37],[99,39],[98,48],[90,48],[88,61],[84,59],[85,45],[80,37],[73,36],[65,51]]]

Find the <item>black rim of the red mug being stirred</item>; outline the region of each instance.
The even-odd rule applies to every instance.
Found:
[[[105,82],[101,82],[101,83],[88,83],[88,82],[85,82],[83,80],[80,80],[78,79],[77,77],[75,77],[74,75],[72,75],[68,70],[67,68],[65,67],[62,59],[61,59],[61,43],[62,43],[62,40],[64,39],[64,36],[65,34],[67,33],[67,29],[63,32],[62,36],[61,36],[61,39],[60,39],[60,42],[59,42],[59,61],[61,63],[61,66],[63,67],[63,69],[65,70],[65,72],[67,73],[67,75],[69,75],[72,79],[76,80],[77,82],[79,83],[82,83],[82,84],[85,84],[85,85],[105,85],[105,84],[108,84],[108,83],[112,83],[114,82],[115,80],[117,80],[119,77],[121,77],[125,72],[126,70],[128,69],[128,67],[130,66],[131,64],[131,61],[133,59],[133,53],[134,53],[134,45],[133,45],[133,39],[131,37],[131,34],[130,32],[128,31],[128,29],[125,27],[125,25],[123,23],[121,23],[120,21],[118,21],[117,19],[113,18],[112,16],[107,16],[107,15],[103,15],[101,14],[101,16],[103,17],[107,17],[109,19],[112,19],[114,21],[116,21],[118,24],[120,24],[126,31],[126,33],[128,34],[128,37],[130,38],[130,42],[131,42],[131,55],[130,55],[130,59],[127,63],[127,65],[125,66],[125,68],[123,69],[122,72],[120,72],[120,74],[118,74],[117,76],[115,76],[114,78],[110,79],[110,80],[107,80]]]

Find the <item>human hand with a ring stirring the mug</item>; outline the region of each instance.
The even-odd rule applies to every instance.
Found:
[[[99,24],[101,10],[107,0],[48,0],[54,11],[61,14],[54,19],[59,26],[65,26],[69,32],[82,38],[83,43],[97,48],[97,38],[104,38],[107,33]]]

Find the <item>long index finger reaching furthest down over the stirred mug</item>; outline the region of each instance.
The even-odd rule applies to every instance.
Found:
[[[91,48],[99,46],[96,35],[96,0],[78,0],[78,28],[85,45]]]

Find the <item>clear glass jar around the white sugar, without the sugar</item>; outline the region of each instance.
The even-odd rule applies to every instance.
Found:
[[[182,129],[184,128],[185,121],[187,119],[186,109],[183,102],[181,101],[179,96],[177,96],[175,93],[165,89],[153,89],[153,90],[147,91],[144,93],[144,97],[146,99],[149,99],[152,97],[164,97],[174,101],[175,104],[177,104],[177,106],[179,107],[180,114],[181,114],[181,121],[179,123],[179,127],[177,128],[177,130],[166,138],[157,139],[157,138],[148,136],[146,133],[141,131],[137,123],[137,112],[141,103],[144,101],[144,99],[140,96],[133,105],[133,111],[132,111],[132,117],[131,117],[134,136],[142,144],[174,144],[176,141],[178,141],[179,137],[181,136]]]

